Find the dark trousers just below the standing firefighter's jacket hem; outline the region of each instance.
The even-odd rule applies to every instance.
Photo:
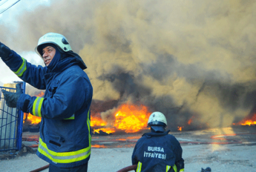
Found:
[[[82,166],[77,166],[74,168],[60,168],[50,164],[49,172],[87,172],[88,162],[83,164]]]

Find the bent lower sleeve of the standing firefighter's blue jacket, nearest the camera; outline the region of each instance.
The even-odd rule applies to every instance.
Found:
[[[61,120],[70,118],[92,97],[92,85],[83,76],[68,75],[50,97],[30,97],[22,94],[17,103],[18,109],[26,109],[37,117]]]

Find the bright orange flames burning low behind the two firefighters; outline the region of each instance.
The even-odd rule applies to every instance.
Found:
[[[121,104],[116,101],[93,101],[91,110],[91,127],[93,134],[106,136],[113,133],[138,133],[148,129],[147,120],[150,111],[147,106],[140,104]],[[24,131],[38,132],[41,118],[29,113],[24,114]],[[196,125],[196,124],[197,125]],[[207,125],[199,125],[198,119],[193,116],[188,119],[186,125],[177,126],[172,131],[190,131],[205,129]],[[256,113],[248,115],[240,122],[233,125],[255,125]]]

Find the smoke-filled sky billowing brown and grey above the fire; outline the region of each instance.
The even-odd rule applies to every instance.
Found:
[[[0,41],[44,66],[37,41],[58,32],[88,66],[93,99],[223,127],[255,108],[255,9],[253,0],[21,0],[0,15]],[[0,82],[13,80],[0,61]]]

